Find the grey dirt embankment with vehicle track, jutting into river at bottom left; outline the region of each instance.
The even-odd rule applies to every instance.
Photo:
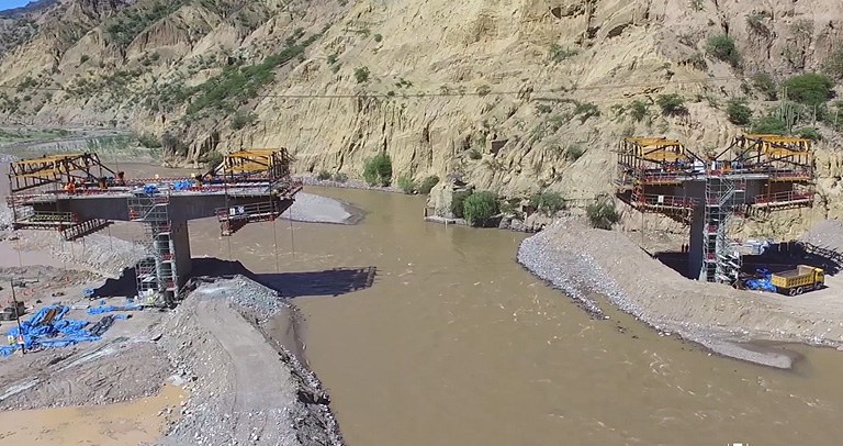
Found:
[[[238,276],[201,283],[172,313],[160,343],[191,398],[162,444],[342,444],[318,380],[262,330],[283,308]]]

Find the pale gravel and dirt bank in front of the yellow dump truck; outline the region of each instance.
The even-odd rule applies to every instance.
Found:
[[[843,344],[843,305],[822,294],[787,298],[688,280],[623,233],[565,219],[525,239],[518,263],[603,317],[599,294],[652,327],[726,356],[789,368],[785,355],[743,348],[751,341]],[[827,291],[827,290],[824,290]],[[816,292],[819,293],[819,292]]]

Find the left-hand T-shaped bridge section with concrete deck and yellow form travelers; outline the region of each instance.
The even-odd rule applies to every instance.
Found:
[[[191,271],[188,221],[216,218],[222,236],[251,222],[273,221],[292,205],[284,148],[239,150],[192,178],[126,178],[97,154],[63,154],[10,164],[7,198],[15,228],[57,231],[72,241],[114,221],[145,225],[148,256],[135,266],[137,296],[172,304]]]

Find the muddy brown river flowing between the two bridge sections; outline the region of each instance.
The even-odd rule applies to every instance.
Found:
[[[787,346],[802,358],[785,371],[595,321],[516,264],[522,234],[425,223],[418,197],[308,191],[366,219],[226,238],[198,221],[192,250],[301,283],[305,354],[351,446],[840,444],[839,352]],[[331,271],[367,267],[357,291]]]

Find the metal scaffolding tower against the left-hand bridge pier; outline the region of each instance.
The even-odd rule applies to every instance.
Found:
[[[178,271],[170,237],[169,197],[150,194],[128,199],[133,222],[145,225],[145,238],[138,242],[149,256],[137,263],[137,296],[148,304],[170,304],[178,294]]]

